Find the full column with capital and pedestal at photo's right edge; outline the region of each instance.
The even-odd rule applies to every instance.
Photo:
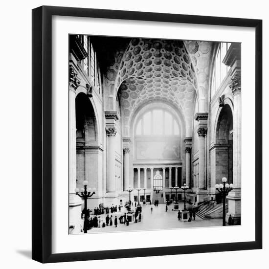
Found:
[[[234,73],[230,88],[233,94],[233,190],[227,196],[228,213],[234,224],[241,224],[241,73]]]

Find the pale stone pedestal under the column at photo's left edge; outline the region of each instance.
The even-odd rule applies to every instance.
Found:
[[[69,194],[69,233],[78,234],[83,229],[81,205],[83,201],[76,194]]]

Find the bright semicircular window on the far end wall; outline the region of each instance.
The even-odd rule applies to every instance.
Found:
[[[154,109],[140,117],[135,135],[179,135],[179,124],[170,112]]]

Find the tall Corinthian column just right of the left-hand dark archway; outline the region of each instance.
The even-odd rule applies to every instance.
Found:
[[[106,128],[108,135],[108,188],[107,192],[115,192],[115,144],[117,131],[114,127]]]

